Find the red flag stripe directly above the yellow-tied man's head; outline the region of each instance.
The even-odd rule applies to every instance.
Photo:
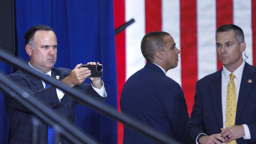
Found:
[[[233,24],[233,0],[216,0],[216,27]],[[222,63],[217,56],[217,69],[222,68]]]

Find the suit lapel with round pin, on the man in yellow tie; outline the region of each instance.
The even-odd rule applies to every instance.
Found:
[[[241,84],[240,84],[240,89],[239,89],[235,123],[238,121],[239,117],[241,116],[241,113],[246,104],[247,98],[253,89],[253,85],[256,81],[256,76],[253,75],[254,73],[255,73],[255,70],[250,68],[250,65],[248,63],[245,63]],[[248,83],[248,80],[252,80],[252,82]]]

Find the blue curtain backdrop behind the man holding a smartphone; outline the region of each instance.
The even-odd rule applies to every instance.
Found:
[[[30,27],[52,27],[58,42],[55,67],[74,69],[79,63],[102,63],[102,79],[109,90],[105,103],[117,109],[113,0],[16,0],[15,19],[18,57],[29,59],[24,34]],[[12,68],[0,64],[1,70],[12,73]],[[0,106],[0,143],[7,143],[9,119],[2,95]],[[76,106],[76,125],[101,143],[117,143],[116,121],[86,106]]]

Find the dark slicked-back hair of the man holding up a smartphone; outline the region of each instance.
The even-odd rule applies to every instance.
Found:
[[[36,25],[34,27],[31,27],[24,35],[25,38],[25,45],[29,44],[32,46],[32,49],[34,49],[34,35],[36,31],[43,30],[43,31],[53,31],[51,27],[46,25]]]

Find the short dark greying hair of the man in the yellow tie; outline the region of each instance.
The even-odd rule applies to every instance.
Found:
[[[220,26],[216,31],[216,37],[220,32],[227,32],[227,31],[230,31],[230,30],[234,31],[234,37],[238,41],[239,44],[244,42],[244,32],[243,32],[243,30],[240,27],[238,27],[236,25],[233,25],[233,24]]]

